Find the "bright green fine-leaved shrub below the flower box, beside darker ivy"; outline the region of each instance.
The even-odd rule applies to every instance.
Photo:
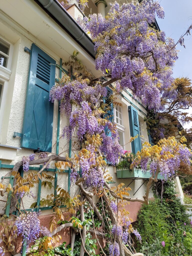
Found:
[[[167,215],[158,199],[150,200],[149,205],[143,204],[138,212],[136,228],[141,234],[142,240],[148,244],[153,243],[157,224],[161,223],[167,229],[170,225],[167,222]]]

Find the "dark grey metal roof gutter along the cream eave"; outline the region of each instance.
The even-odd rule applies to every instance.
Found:
[[[34,0],[39,2],[54,18],[95,58],[94,44],[78,23],[57,0]]]

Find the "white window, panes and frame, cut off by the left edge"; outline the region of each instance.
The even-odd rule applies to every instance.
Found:
[[[13,44],[6,38],[0,37],[0,133],[3,122],[5,101],[8,90],[8,81],[11,75],[11,62],[13,56]]]

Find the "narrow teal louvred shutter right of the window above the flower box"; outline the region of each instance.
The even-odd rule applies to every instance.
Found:
[[[138,112],[132,106],[129,106],[129,125],[130,125],[130,133],[132,137],[139,135],[134,141],[131,142],[132,152],[134,154],[137,151],[141,151],[141,138],[140,138],[140,129],[139,129],[139,119]]]

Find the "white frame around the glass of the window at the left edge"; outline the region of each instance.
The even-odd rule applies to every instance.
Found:
[[[11,64],[12,64],[14,46],[13,46],[12,42],[7,40],[2,35],[0,35],[0,39],[5,41],[9,45],[9,55],[8,55],[7,67],[5,68],[0,65],[0,80],[3,83],[2,101],[1,101],[1,105],[0,105],[0,133],[1,133],[4,110],[5,110],[5,102],[6,102],[6,96],[7,96],[7,90],[8,90],[8,81],[9,81],[10,75],[11,75]]]

